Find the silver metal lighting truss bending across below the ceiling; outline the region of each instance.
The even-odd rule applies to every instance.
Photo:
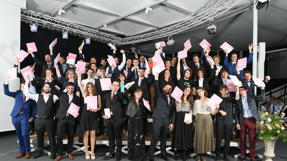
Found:
[[[131,44],[136,42],[143,42],[148,40],[153,40],[156,38],[169,36],[173,34],[178,34],[180,32],[190,30],[191,28],[200,25],[204,22],[214,19],[222,15],[224,12],[228,11],[232,7],[236,6],[242,0],[222,0],[219,3],[213,5],[209,9],[205,10],[198,15],[191,17],[185,21],[172,25],[168,28],[164,28],[155,32],[150,32],[138,36],[132,36],[127,38],[119,38],[110,34],[100,32],[99,30],[94,30],[91,28],[84,27],[75,23],[63,21],[55,17],[51,17],[42,13],[30,11],[27,9],[21,10],[21,20],[22,21],[36,21],[38,25],[42,25],[46,28],[55,28],[57,30],[68,30],[75,35],[82,35],[83,37],[88,35],[91,39],[103,41],[106,43],[113,42],[116,45]]]

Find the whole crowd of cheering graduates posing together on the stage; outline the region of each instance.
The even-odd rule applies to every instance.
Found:
[[[253,45],[250,44],[247,64],[252,62],[252,47]],[[159,49],[162,46],[156,46],[156,48]],[[187,50],[187,47],[184,50]],[[205,161],[203,154],[210,151],[216,152],[215,160],[219,161],[224,134],[223,159],[229,161],[234,111],[236,129],[240,131],[238,133],[240,133],[241,158],[238,160],[242,161],[246,158],[247,130],[250,159],[255,160],[255,121],[260,121],[256,102],[265,99],[265,89],[261,88],[260,97],[255,95],[251,72],[244,71],[244,69],[237,70],[240,66],[237,65],[236,53],[231,54],[231,62],[228,62],[228,52],[224,50],[226,53],[225,68],[219,64],[219,55],[213,56],[214,65],[207,61],[204,54],[208,55],[210,48],[203,49],[200,57],[193,54],[192,61],[189,61],[188,57],[178,59],[180,55],[165,59],[159,53],[164,61],[165,69],[160,73],[152,74],[152,68],[157,65],[157,62],[153,62],[152,56],[145,58],[140,55],[138,57],[135,53],[135,58],[126,58],[123,50],[120,50],[123,62],[119,63],[119,58],[114,57],[116,66],[109,66],[106,58],[101,58],[100,66],[97,66],[96,58],[91,57],[85,69],[77,68],[76,64],[66,63],[69,57],[63,56],[57,64],[54,64],[51,61],[54,60],[53,48],[50,49],[50,54],[45,55],[45,62],[39,61],[29,50],[28,52],[36,64],[42,68],[42,75],[35,75],[32,81],[26,80],[25,82],[23,76],[18,73],[17,76],[22,82],[20,83],[21,89],[16,92],[9,91],[8,79],[11,76],[6,76],[4,84],[5,95],[15,98],[11,116],[20,145],[20,154],[16,158],[31,157],[29,131],[31,133],[33,129],[29,129],[29,123],[32,124],[34,121],[34,128],[37,132],[37,154],[33,158],[42,156],[46,130],[50,144],[50,158],[55,161],[63,158],[63,137],[67,136],[67,157],[73,159],[71,154],[73,136],[78,125],[77,117],[80,115],[79,143],[84,144],[86,159],[95,159],[96,136],[104,134],[105,125],[109,154],[103,158],[104,160],[115,158],[115,149],[116,160],[121,160],[122,130],[128,139],[128,159],[146,160],[145,137],[149,136],[147,114],[150,113],[153,119],[150,161],[154,161],[153,155],[159,137],[161,158],[169,160],[166,155],[166,138],[169,137],[168,131],[172,128],[171,148],[174,148],[175,160],[179,159],[178,150],[183,150],[182,158],[186,160],[187,149],[194,147],[197,161]],[[115,50],[113,55],[115,55]],[[79,48],[78,60],[85,62],[81,48]],[[18,67],[19,59],[16,58],[15,62],[14,66]],[[147,66],[150,67],[148,71]],[[30,68],[32,69],[32,66]],[[32,72],[34,74],[34,70]],[[228,87],[229,75],[237,76],[242,86]],[[102,89],[100,80],[105,78],[110,78],[106,79],[111,81],[111,86],[108,87],[110,90]],[[269,80],[270,77],[266,76],[262,83],[267,84]],[[134,84],[125,87],[130,82]],[[176,86],[183,91],[183,95],[175,99],[171,93]],[[223,100],[220,104],[214,105],[215,109],[207,105],[213,94]],[[97,96],[97,105],[87,109],[89,96]],[[67,113],[72,103],[81,107],[76,116]],[[151,112],[146,108],[146,103],[150,104]],[[235,110],[233,110],[233,104],[235,104]],[[110,115],[107,115],[106,111]],[[185,119],[186,114],[193,116]],[[215,115],[216,119],[216,148],[212,115]],[[193,122],[196,122],[194,131]],[[55,135],[57,135],[57,141]],[[91,155],[88,146],[91,147]]]

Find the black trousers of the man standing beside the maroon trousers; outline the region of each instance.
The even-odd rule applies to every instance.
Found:
[[[226,125],[224,120],[216,120],[216,148],[215,153],[220,156],[221,140],[224,133],[224,152],[223,156],[227,156],[230,148],[230,137],[232,133],[233,124]]]

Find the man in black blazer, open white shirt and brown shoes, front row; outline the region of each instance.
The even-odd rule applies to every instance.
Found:
[[[57,148],[58,148],[58,156],[55,159],[55,161],[59,161],[61,158],[63,158],[63,136],[67,129],[68,134],[68,145],[67,145],[67,156],[69,159],[73,159],[72,151],[73,151],[73,132],[75,127],[75,118],[79,115],[81,112],[81,108],[79,109],[76,117],[73,115],[67,113],[69,106],[71,103],[74,103],[77,106],[80,106],[80,99],[77,95],[73,94],[73,91],[75,89],[73,82],[67,83],[67,92],[59,92],[55,85],[53,84],[51,77],[48,78],[48,84],[51,88],[51,91],[56,95],[60,100],[60,107],[56,114],[56,117],[58,118],[57,123]]]

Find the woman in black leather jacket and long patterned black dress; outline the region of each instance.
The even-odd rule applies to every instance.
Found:
[[[131,87],[131,86],[129,86]],[[142,90],[135,90],[134,96],[129,97],[129,87],[125,92],[125,100],[128,102],[127,111],[134,111],[132,117],[129,116],[128,124],[128,152],[127,158],[133,161],[146,160],[145,140],[144,140],[144,123],[145,117],[144,101],[141,98]],[[146,101],[149,103],[148,101]],[[133,110],[129,110],[133,109]],[[129,114],[130,115],[130,114]]]

